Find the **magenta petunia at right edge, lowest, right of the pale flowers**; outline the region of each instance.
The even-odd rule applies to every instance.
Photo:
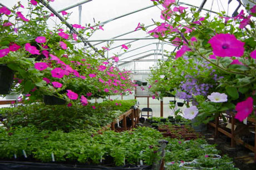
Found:
[[[242,122],[253,111],[253,98],[248,97],[245,101],[237,103],[235,109],[237,110],[235,118]]]

